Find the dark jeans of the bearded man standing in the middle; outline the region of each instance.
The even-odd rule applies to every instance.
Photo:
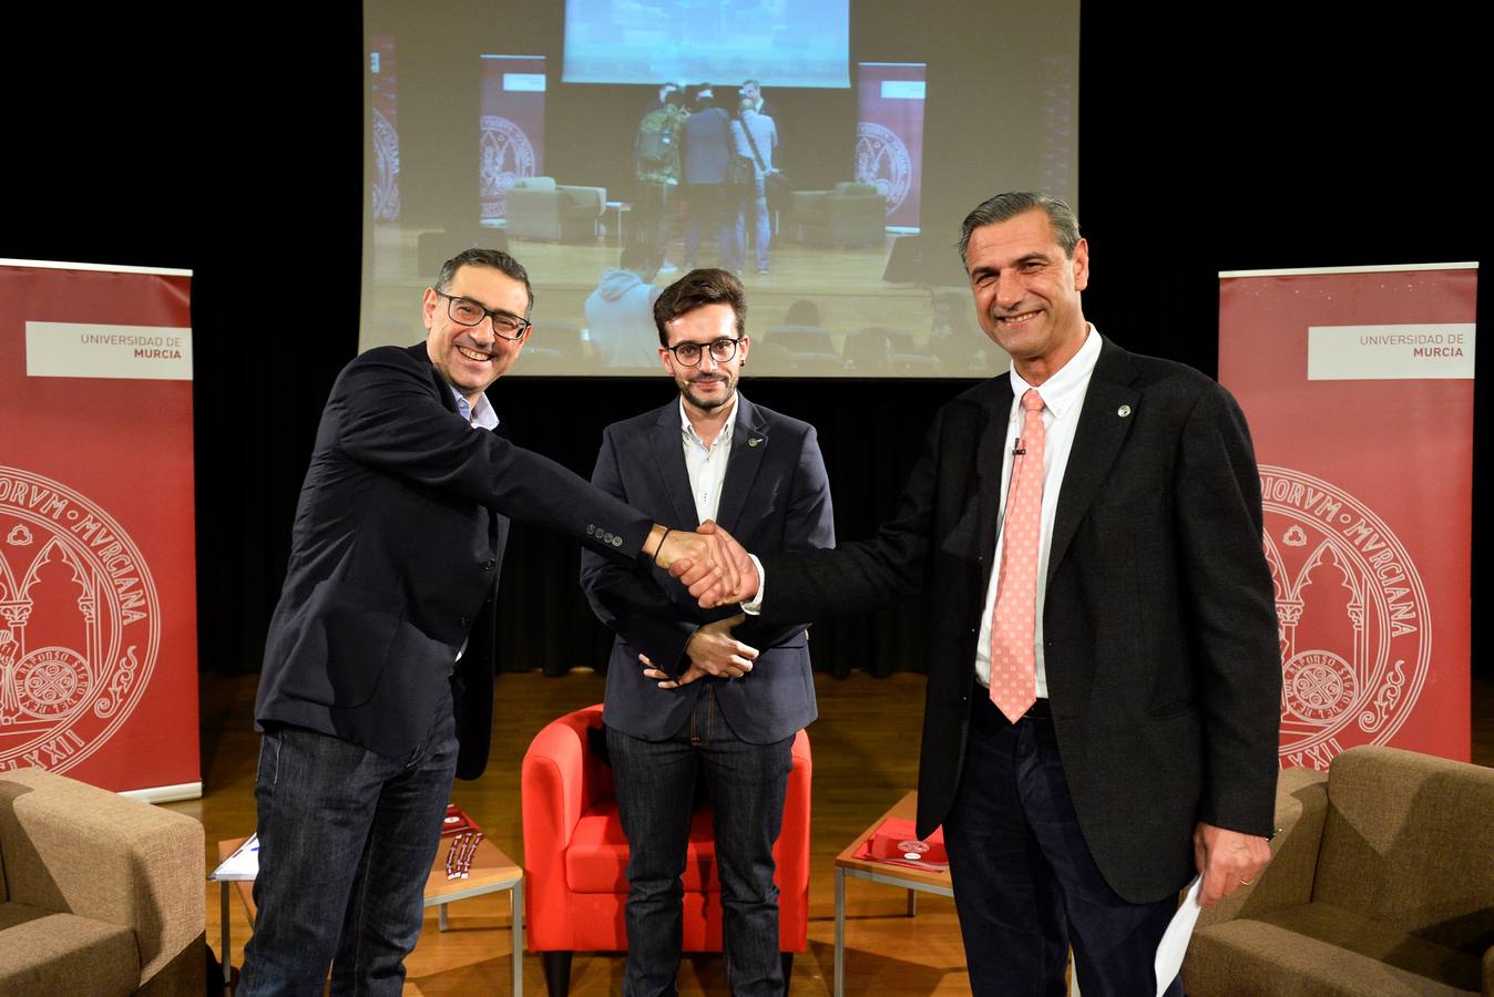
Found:
[[[702,679],[710,681],[710,679]],[[778,888],[772,845],[793,737],[748,745],[722,718],[711,687],[690,721],[668,740],[639,740],[607,728],[617,809],[627,836],[627,997],[675,993],[683,937],[686,848],[696,773],[716,810],[716,867],[722,879],[723,948],[732,994],[783,994]]]

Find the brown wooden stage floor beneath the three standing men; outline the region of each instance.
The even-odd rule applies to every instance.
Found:
[[[252,730],[258,676],[203,676],[203,797],[167,804],[203,822],[205,869],[217,866],[217,842],[254,828],[254,770],[258,736]],[[831,993],[835,942],[835,855],[892,806],[917,775],[923,715],[923,676],[884,679],[862,672],[847,679],[816,675],[820,719],[810,728],[814,746],[813,872],[810,879],[810,948],[795,957],[790,993]],[[518,769],[524,749],[550,719],[598,703],[602,676],[577,670],[562,678],[538,672],[503,675],[498,682],[493,752],[477,782],[457,782],[456,801],[514,860],[523,858],[518,813]],[[1473,684],[1473,760],[1494,764],[1494,682]],[[907,916],[905,893],[850,879],[846,888],[846,993],[968,994],[970,981],[953,901],[919,896],[917,916]],[[205,884],[208,940],[218,948],[218,885]],[[242,904],[230,904],[235,966],[244,961],[248,921]],[[436,910],[406,966],[406,994],[465,997],[506,994],[511,979],[508,894],[463,900],[451,906],[451,930],[436,930]],[[221,954],[220,954],[221,955]],[[571,993],[578,997],[622,993],[620,955],[578,954]],[[524,991],[544,994],[539,958],[524,958]],[[726,994],[719,955],[687,955],[680,993]]]

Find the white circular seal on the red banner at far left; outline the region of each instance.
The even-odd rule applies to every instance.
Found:
[[[0,466],[0,770],[66,772],[140,701],[161,609],[139,548],[84,496]]]

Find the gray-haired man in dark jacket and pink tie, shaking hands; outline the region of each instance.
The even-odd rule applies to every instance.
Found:
[[[944,827],[971,990],[1062,994],[1073,946],[1086,997],[1177,994],[1152,967],[1179,888],[1203,873],[1209,904],[1270,860],[1280,655],[1249,431],[1218,384],[1085,321],[1089,245],[1058,199],[992,197],[961,257],[1011,370],[940,410],[877,537],[743,561],[734,596],[772,621],[937,591],[917,830]],[[1029,475],[1040,498],[1008,485]]]

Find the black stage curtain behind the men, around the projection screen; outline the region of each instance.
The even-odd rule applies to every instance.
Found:
[[[1001,6],[994,7],[999,30]],[[1010,16],[1014,7],[1008,9]],[[12,96],[0,257],[191,267],[197,373],[202,667],[258,667],[317,416],[356,349],[363,191],[357,3],[236,15],[239,39],[179,42],[196,7],[94,12],[64,34],[16,9],[34,58],[0,67]],[[1080,203],[1086,313],[1129,349],[1213,373],[1221,269],[1482,260],[1482,51],[1454,4],[1416,18],[1256,4],[1194,22],[1135,4],[1082,13]],[[439,24],[433,24],[439,30]],[[931,81],[931,94],[934,82]],[[934,131],[999,127],[988,96],[940,94]],[[956,106],[958,104],[958,106]],[[958,148],[953,146],[953,148]],[[928,164],[937,173],[937,164]],[[1002,190],[991,178],[991,191]],[[958,218],[931,236],[953,240]],[[947,231],[946,231],[947,230]],[[418,330],[412,330],[414,340]],[[1485,351],[1488,352],[1488,351]],[[1481,378],[1488,361],[1479,361]],[[843,539],[870,534],[952,382],[750,382],[820,430]],[[505,379],[515,437],[580,473],[601,427],[660,403],[659,381]],[[1476,434],[1488,434],[1488,393]],[[79,399],[81,431],[91,413]],[[1386,418],[1395,418],[1386,393]],[[3,400],[0,400],[3,413]],[[0,433],[3,443],[3,433]],[[1388,454],[1392,461],[1394,455]],[[149,487],[149,482],[142,482]],[[1488,472],[1475,470],[1475,509]],[[1488,530],[1475,521],[1475,604]],[[605,634],[572,545],[514,534],[505,667],[598,664]],[[822,621],[816,661],[919,669],[917,607]],[[586,621],[580,625],[578,621]],[[1475,633],[1475,670],[1494,673]]]

